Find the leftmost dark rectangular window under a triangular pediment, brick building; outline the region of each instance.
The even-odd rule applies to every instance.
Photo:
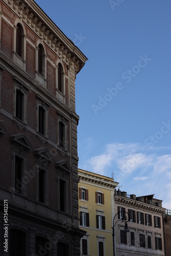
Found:
[[[15,156],[15,191],[22,193],[23,158]]]

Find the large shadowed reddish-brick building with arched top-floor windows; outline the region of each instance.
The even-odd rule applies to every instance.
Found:
[[[0,30],[0,254],[79,255],[75,78],[87,58],[33,0],[1,0]]]

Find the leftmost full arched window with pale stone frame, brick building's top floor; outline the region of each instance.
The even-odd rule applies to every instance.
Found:
[[[20,30],[20,39],[17,38],[17,30]],[[19,39],[19,41],[18,41]],[[26,29],[22,21],[17,18],[14,23],[14,48],[13,48],[13,60],[17,65],[26,71]],[[20,43],[19,43],[20,42]],[[21,46],[21,50],[18,51],[18,44]]]

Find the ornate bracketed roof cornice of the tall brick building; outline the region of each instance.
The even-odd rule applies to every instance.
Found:
[[[88,60],[87,57],[33,0],[3,0],[3,2],[10,6],[53,52],[74,66],[76,74],[82,69]]]

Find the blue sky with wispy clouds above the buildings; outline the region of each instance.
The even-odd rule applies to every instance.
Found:
[[[35,2],[89,59],[76,78],[79,168],[171,209],[170,0]]]

